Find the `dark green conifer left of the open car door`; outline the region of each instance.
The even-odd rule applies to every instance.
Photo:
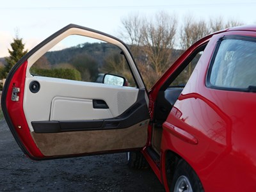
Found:
[[[24,51],[24,44],[22,42],[22,38],[19,38],[18,35],[16,35],[15,38],[13,38],[13,42],[11,44],[12,50],[8,49],[8,52],[10,53],[10,57],[6,57],[5,60],[7,62],[7,65],[5,67],[5,73],[6,76],[10,72],[11,68],[17,63],[17,61],[24,56],[28,50]]]

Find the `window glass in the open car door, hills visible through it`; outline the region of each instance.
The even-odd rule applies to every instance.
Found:
[[[121,49],[86,36],[70,35],[39,58],[30,68],[34,76],[102,83],[104,74],[125,78],[125,86],[136,84]]]

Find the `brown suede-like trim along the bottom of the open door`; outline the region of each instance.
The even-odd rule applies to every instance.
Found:
[[[61,156],[144,147],[148,120],[125,129],[58,133],[31,132],[44,156]]]

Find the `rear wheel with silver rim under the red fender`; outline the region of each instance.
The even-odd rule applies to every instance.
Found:
[[[170,191],[204,192],[204,188],[195,171],[182,159],[175,169]]]

